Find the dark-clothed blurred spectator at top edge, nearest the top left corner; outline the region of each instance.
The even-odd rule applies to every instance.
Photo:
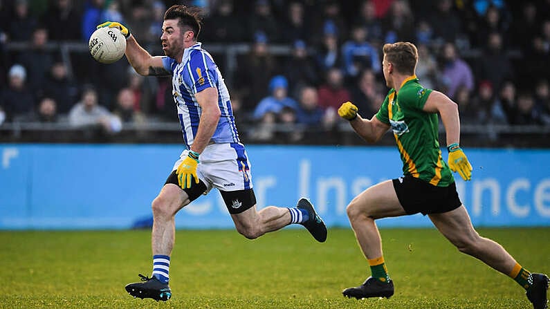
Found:
[[[37,19],[28,10],[28,0],[15,0],[14,15],[10,18],[8,36],[10,41],[28,41],[37,26]]]

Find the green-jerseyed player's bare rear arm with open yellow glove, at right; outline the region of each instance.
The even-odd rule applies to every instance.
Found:
[[[443,93],[432,91],[424,104],[423,110],[441,115],[449,152],[448,165],[452,171],[457,171],[462,179],[470,180],[472,178],[472,165],[470,165],[466,154],[459,145],[460,118],[458,105]]]

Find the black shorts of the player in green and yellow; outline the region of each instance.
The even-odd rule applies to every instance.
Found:
[[[437,187],[412,176],[392,180],[397,198],[407,214],[439,214],[462,205],[455,182],[448,187]]]

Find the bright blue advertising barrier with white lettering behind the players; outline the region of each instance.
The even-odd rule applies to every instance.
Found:
[[[178,145],[0,144],[0,229],[124,229],[148,218]],[[311,198],[329,226],[374,183],[401,176],[393,147],[247,147],[258,207]],[[466,149],[473,180],[457,179],[476,226],[550,226],[550,151]],[[459,176],[457,176],[459,178]],[[415,215],[381,227],[423,227]],[[232,227],[212,191],[176,216],[179,228]]]

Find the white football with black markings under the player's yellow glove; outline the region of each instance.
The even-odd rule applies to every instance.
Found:
[[[124,55],[126,38],[118,28],[102,27],[92,33],[88,46],[93,59],[112,64]]]

